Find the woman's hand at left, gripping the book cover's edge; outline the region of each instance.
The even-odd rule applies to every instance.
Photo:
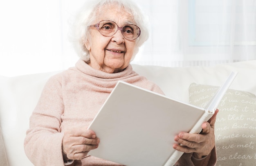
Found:
[[[62,141],[63,159],[83,159],[90,150],[99,146],[99,138],[92,130],[82,130],[80,127],[70,128],[64,132]]]

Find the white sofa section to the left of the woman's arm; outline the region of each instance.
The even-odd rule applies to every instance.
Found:
[[[33,166],[25,155],[23,146],[29,128],[29,117],[46,81],[56,73],[0,76],[0,126],[7,159],[11,166]]]

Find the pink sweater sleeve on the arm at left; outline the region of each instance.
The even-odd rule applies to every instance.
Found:
[[[61,115],[63,100],[61,76],[50,78],[33,111],[24,141],[25,153],[36,166],[64,166]]]

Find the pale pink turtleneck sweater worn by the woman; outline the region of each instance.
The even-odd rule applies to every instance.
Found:
[[[131,65],[122,72],[109,74],[79,60],[75,67],[52,76],[30,117],[24,142],[30,161],[36,166],[63,166],[62,139],[65,129],[69,126],[89,126],[119,80],[163,94],[157,85],[135,73]],[[191,154],[185,154],[177,162],[178,165],[182,163],[191,164]],[[93,156],[75,160],[74,164],[119,165]]]

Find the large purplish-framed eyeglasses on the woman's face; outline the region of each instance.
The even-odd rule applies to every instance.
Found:
[[[117,30],[121,30],[127,40],[135,40],[140,35],[140,29],[136,25],[128,24],[124,27],[118,27],[117,23],[110,20],[102,20],[95,25],[90,25],[90,27],[96,27],[103,36],[108,37],[117,33]]]

